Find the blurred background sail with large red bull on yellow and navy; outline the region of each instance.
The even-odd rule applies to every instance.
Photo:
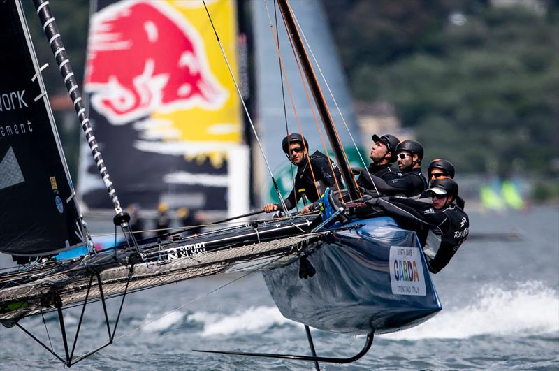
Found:
[[[238,174],[248,167],[248,150],[240,98],[202,1],[95,5],[85,78],[89,119],[122,203],[233,212],[246,198],[239,196],[246,185],[230,193],[248,181]],[[206,5],[238,75],[235,1]],[[89,208],[108,208],[97,173],[84,153],[78,192]]]

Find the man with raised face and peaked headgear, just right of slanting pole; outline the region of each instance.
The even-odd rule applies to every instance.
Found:
[[[391,166],[391,163],[396,162],[396,146],[400,140],[392,134],[384,134],[384,136],[372,136],[372,141],[375,143],[371,148],[370,157],[372,163],[367,168],[367,171],[377,177],[382,177],[386,182],[398,177],[398,171]],[[359,174],[357,178],[357,185],[365,189],[374,189],[372,182],[365,169],[351,168],[354,174]]]

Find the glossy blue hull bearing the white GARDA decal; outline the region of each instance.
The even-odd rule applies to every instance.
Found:
[[[263,272],[284,317],[363,335],[410,328],[442,309],[414,232],[389,217],[352,224],[307,257],[313,277],[300,279],[299,263]]]

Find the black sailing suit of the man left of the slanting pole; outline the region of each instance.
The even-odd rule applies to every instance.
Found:
[[[334,168],[334,175],[332,174],[330,163],[332,163],[332,167]],[[306,156],[297,166],[295,187],[293,187],[289,196],[284,199],[287,210],[295,208],[295,205],[297,205],[301,196],[303,196],[303,193],[307,196],[310,202],[317,201],[320,198],[320,195],[317,194],[317,187],[315,187],[314,180],[312,178],[313,173],[314,179],[319,182],[318,187],[320,192],[324,192],[326,187],[337,189],[335,178],[337,179],[337,184],[340,186],[340,189],[343,189],[344,187],[344,184],[342,183],[342,175],[340,174],[340,170],[337,168],[336,164],[324,153],[316,151],[310,155],[310,166],[309,160]],[[303,189],[304,191],[301,191]],[[275,205],[277,205],[279,210],[283,210],[281,204],[276,203]]]

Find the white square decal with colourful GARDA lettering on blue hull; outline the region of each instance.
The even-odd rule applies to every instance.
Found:
[[[426,296],[419,247],[390,247],[390,283],[395,295]]]

